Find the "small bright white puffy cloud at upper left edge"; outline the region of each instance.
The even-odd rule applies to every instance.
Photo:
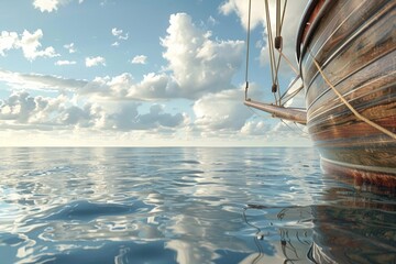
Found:
[[[24,57],[31,62],[37,57],[59,56],[52,46],[40,50],[42,45],[40,40],[42,37],[42,30],[36,30],[33,33],[24,30],[21,35],[18,35],[16,32],[2,31],[0,36],[0,55],[4,56],[4,51],[8,50],[21,48]]]

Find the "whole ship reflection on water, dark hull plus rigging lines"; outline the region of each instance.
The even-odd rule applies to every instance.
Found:
[[[394,189],[323,180],[331,186],[316,205],[243,208],[257,251],[242,263],[396,263]]]

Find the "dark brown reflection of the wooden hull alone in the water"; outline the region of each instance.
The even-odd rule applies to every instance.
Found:
[[[318,263],[396,263],[395,189],[365,185],[343,175],[324,177],[341,184],[323,193],[323,200],[332,206],[317,206],[312,210],[315,260]]]

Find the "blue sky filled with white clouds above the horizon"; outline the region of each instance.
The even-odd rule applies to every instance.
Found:
[[[307,1],[288,2],[284,53],[297,67]],[[243,105],[245,0],[0,4],[1,146],[310,145],[304,128]],[[273,102],[264,10],[252,0],[249,96]],[[294,76],[283,64],[280,87]]]

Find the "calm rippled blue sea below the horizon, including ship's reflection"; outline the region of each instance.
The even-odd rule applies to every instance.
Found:
[[[0,155],[0,263],[396,263],[395,190],[312,148]]]

